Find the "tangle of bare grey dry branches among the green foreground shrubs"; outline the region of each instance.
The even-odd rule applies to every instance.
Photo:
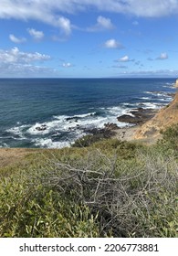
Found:
[[[42,183],[98,214],[101,231],[111,227],[116,235],[125,236],[128,229],[133,234],[140,218],[146,216],[145,223],[149,226],[152,208],[162,190],[176,190],[177,184],[178,165],[174,159],[141,152],[139,155],[144,165],[134,165],[134,170],[126,171],[116,156],[110,158],[98,150],[89,153],[87,160],[81,159],[78,165],[50,158],[50,168],[47,165],[44,168]]]

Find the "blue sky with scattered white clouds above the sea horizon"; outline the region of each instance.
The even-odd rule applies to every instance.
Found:
[[[0,78],[178,77],[178,0],[0,0]]]

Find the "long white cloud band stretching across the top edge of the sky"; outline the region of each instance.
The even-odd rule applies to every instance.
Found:
[[[131,14],[133,16],[171,16],[178,14],[177,0],[0,0],[0,17],[37,19],[54,26],[58,13],[74,13],[89,10]]]

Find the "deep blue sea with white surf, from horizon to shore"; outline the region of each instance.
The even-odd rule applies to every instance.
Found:
[[[0,147],[70,146],[135,108],[173,100],[175,79],[1,79]]]

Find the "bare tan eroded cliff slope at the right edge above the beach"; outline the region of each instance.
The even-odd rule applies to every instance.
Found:
[[[133,135],[133,139],[159,137],[161,130],[175,123],[178,123],[178,92],[176,92],[173,101],[168,106],[162,108],[150,121],[138,128]]]

